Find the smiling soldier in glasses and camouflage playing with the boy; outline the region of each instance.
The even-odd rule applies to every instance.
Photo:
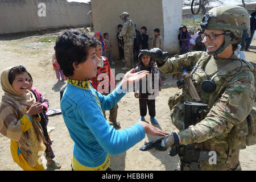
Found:
[[[176,93],[168,103],[172,123],[180,132],[148,142],[141,150],[172,147],[170,154],[179,154],[180,170],[241,170],[240,150],[250,145],[246,140],[250,129],[247,122],[251,120],[246,118],[254,111],[255,80],[254,67],[234,51],[241,41],[244,46],[250,35],[249,14],[243,7],[223,5],[208,11],[200,25],[207,52],[189,52],[167,60],[167,52],[159,53],[159,49],[141,51],[155,57],[159,70],[166,74],[195,68],[191,75],[198,101],[208,105],[199,113],[197,123],[185,127],[188,119],[184,119],[184,102],[195,103],[195,99],[189,93],[191,88],[184,85],[183,92]],[[209,163],[210,151],[218,154],[216,164]]]

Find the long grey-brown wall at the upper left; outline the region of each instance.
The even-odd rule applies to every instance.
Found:
[[[39,17],[39,3],[45,3],[46,16]],[[1,0],[0,34],[89,26],[90,10],[88,3],[66,0]]]

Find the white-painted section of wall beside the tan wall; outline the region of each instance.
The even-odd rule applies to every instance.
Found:
[[[164,24],[164,51],[179,53],[179,27],[182,22],[182,1],[162,0]]]

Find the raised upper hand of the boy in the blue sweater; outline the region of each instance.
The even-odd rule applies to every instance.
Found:
[[[147,74],[149,73],[148,71],[140,71],[140,72],[135,72],[135,69],[131,69],[127,73],[125,73],[125,76],[123,77],[123,80],[121,82],[122,88],[127,89],[130,84],[134,84],[135,82],[141,80],[142,78],[146,77]]]

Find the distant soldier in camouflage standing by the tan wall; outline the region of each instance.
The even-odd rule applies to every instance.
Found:
[[[121,68],[123,71],[129,70],[133,67],[133,42],[136,37],[135,24],[133,20],[129,19],[129,14],[123,12],[120,18],[125,22],[119,38],[123,38],[125,43],[125,67]]]

